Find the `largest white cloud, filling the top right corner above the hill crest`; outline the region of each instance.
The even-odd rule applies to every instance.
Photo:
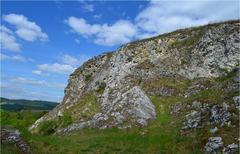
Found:
[[[160,34],[179,28],[239,18],[237,1],[151,1],[135,18],[142,33]]]

